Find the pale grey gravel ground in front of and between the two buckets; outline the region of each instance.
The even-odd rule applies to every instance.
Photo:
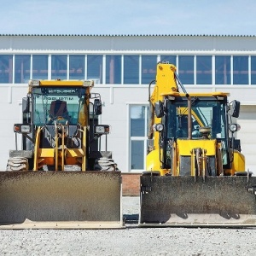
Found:
[[[137,218],[138,197],[123,198]],[[1,255],[256,255],[255,229],[0,230]]]

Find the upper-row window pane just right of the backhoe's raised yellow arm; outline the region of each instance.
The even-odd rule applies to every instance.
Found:
[[[178,77],[183,84],[194,84],[194,56],[178,56]]]

